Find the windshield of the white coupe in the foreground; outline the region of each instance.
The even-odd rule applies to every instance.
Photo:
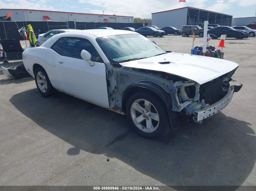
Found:
[[[142,59],[166,53],[140,34],[120,34],[96,39],[111,63]]]

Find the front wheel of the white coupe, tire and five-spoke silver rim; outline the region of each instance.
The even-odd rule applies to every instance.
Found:
[[[148,93],[131,95],[126,104],[126,115],[131,128],[145,138],[158,138],[170,130],[165,104]]]

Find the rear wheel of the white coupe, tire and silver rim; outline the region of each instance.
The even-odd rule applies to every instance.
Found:
[[[48,97],[55,92],[55,88],[53,88],[47,73],[42,67],[35,69],[35,84],[40,94],[44,97]]]

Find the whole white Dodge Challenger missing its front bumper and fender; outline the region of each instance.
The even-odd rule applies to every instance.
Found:
[[[146,138],[202,123],[221,111],[242,84],[230,86],[238,64],[166,52],[127,30],[57,34],[23,52],[23,63],[45,97],[56,90],[124,114]]]

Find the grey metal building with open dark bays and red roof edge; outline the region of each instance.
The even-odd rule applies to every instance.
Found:
[[[160,28],[170,26],[181,29],[182,25],[204,25],[204,21],[209,21],[209,24],[219,24],[231,26],[232,15],[207,11],[193,7],[183,7],[169,11],[161,11],[152,13],[152,25]]]

